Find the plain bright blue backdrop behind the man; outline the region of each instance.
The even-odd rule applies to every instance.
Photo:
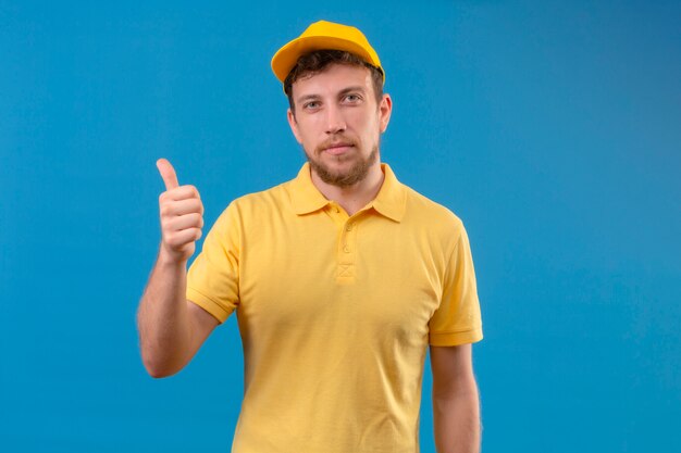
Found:
[[[207,228],[294,177],[269,62],[327,18],[386,68],[384,161],[467,225],[483,450],[681,451],[679,17],[678,1],[0,1],[1,449],[228,451],[235,317],[172,378],[140,362],[154,163],[199,188]],[[426,364],[423,452],[430,382]]]

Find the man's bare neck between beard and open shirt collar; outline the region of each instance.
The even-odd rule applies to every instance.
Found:
[[[381,162],[376,160],[367,173],[367,177],[352,186],[338,187],[324,183],[314,171],[311,171],[312,184],[322,192],[326,200],[338,203],[348,215],[355,214],[376,198],[383,185]]]

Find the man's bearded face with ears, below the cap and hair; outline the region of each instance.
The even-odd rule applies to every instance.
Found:
[[[379,142],[392,101],[383,95],[376,103],[367,67],[331,64],[292,88],[296,112],[288,110],[288,124],[324,183],[352,186],[380,165]]]

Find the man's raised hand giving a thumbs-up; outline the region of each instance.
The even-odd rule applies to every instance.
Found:
[[[168,160],[159,159],[156,166],[165,184],[165,191],[159,197],[162,234],[159,259],[186,262],[201,237],[203,203],[196,187],[177,184],[175,169]]]

